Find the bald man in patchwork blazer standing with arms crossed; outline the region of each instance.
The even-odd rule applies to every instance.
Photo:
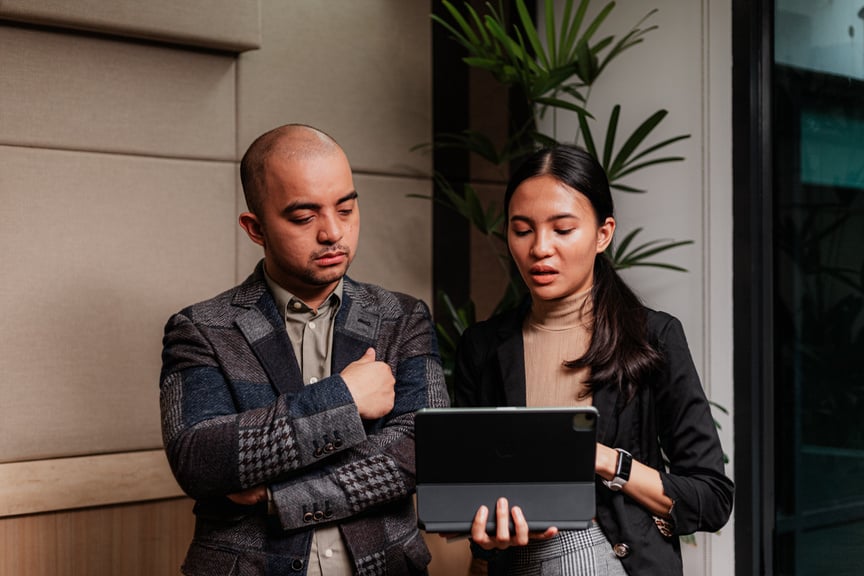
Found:
[[[196,500],[185,574],[424,574],[414,412],[448,396],[425,304],[345,276],[359,202],[345,153],[287,125],[243,157],[241,285],[165,328],[165,450]]]

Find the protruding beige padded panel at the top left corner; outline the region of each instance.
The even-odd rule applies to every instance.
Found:
[[[4,18],[231,51],[261,40],[258,0],[3,0]]]

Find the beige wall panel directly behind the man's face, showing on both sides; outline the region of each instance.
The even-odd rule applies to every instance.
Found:
[[[407,197],[431,194],[431,182],[355,174],[354,185],[360,194],[360,246],[349,276],[432,306],[432,203]],[[238,254],[237,276],[243,279],[264,252],[244,235]]]

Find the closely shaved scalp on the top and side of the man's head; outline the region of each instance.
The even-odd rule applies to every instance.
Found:
[[[266,190],[266,165],[274,155],[303,160],[312,156],[344,154],[330,135],[305,124],[286,124],[255,139],[240,162],[240,181],[246,206],[259,214]]]

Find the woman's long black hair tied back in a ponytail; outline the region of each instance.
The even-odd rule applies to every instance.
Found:
[[[513,173],[504,194],[505,225],[509,225],[513,193],[525,180],[541,175],[552,176],[588,198],[598,225],[614,216],[609,180],[603,167],[582,148],[561,145],[534,152]],[[591,392],[614,383],[630,397],[639,383],[659,367],[662,358],[648,341],[642,302],[621,279],[605,253],[594,259],[591,299],[591,343],[584,355],[564,365],[590,367],[588,386]]]

